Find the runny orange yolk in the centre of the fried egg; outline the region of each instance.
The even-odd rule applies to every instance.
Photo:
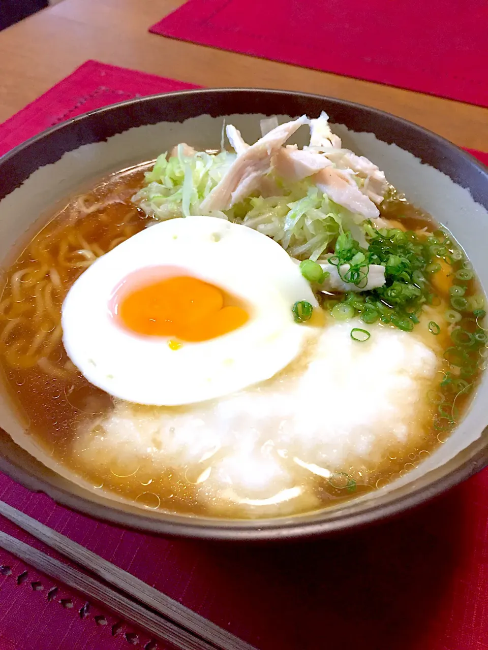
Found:
[[[137,334],[208,341],[249,320],[243,307],[226,302],[226,294],[218,287],[178,276],[128,292],[118,302],[117,314]]]

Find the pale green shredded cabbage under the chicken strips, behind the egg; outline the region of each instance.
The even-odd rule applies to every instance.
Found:
[[[150,172],[146,187],[132,200],[148,216],[158,220],[202,214],[200,203],[210,194],[236,159],[235,153],[184,155],[183,147],[169,159],[161,154]],[[333,250],[333,242],[346,231],[367,247],[357,217],[331,201],[310,181],[286,184],[275,178],[279,196],[250,196],[232,209],[211,213],[252,227],[272,237],[292,257],[317,260]],[[359,219],[360,222],[361,219]]]

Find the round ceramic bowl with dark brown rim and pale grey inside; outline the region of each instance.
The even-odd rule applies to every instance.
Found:
[[[345,146],[385,170],[409,200],[448,227],[488,287],[488,172],[433,133],[379,110],[293,92],[190,90],[95,110],[31,138],[0,160],[0,262],[25,241],[39,215],[92,179],[154,159],[178,142],[216,148],[223,116],[245,140],[263,116],[318,116],[325,110]],[[93,517],[161,534],[257,540],[329,534],[390,517],[439,495],[488,463],[483,378],[458,428],[424,463],[390,486],[306,515],[257,521],[191,518],[142,510],[73,482],[33,440],[0,396],[0,469],[21,484]]]

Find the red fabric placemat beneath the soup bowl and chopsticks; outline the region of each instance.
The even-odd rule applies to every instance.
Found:
[[[12,147],[104,103],[187,87],[87,62],[1,125],[0,139]],[[488,650],[488,471],[397,521],[269,547],[122,530],[1,474],[0,499],[260,650]],[[42,548],[3,519],[0,529]],[[53,582],[1,550],[0,565],[0,650],[124,650],[136,641],[151,648],[146,635],[118,627],[100,608],[80,614],[85,599],[62,585],[49,602]]]

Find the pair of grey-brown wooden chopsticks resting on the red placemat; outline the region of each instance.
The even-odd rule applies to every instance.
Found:
[[[3,501],[0,501],[0,514],[118,591],[2,531],[0,547],[38,571],[85,593],[154,636],[181,650],[256,650],[124,569]]]

